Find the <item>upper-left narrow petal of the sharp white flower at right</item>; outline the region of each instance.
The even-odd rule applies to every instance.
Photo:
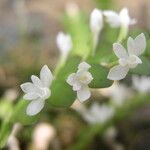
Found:
[[[128,57],[127,51],[121,44],[114,43],[113,49],[118,58],[127,58]]]

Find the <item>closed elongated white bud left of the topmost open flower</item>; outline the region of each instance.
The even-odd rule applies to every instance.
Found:
[[[98,36],[102,28],[103,28],[102,11],[95,8],[90,15],[90,29],[92,31],[95,44],[97,44]]]

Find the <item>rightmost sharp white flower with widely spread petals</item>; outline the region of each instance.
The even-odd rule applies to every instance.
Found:
[[[143,33],[135,39],[129,37],[127,42],[128,52],[119,43],[113,44],[114,53],[119,58],[119,65],[110,69],[108,79],[121,80],[125,78],[130,68],[135,68],[142,60],[138,57],[146,48],[146,39]]]

